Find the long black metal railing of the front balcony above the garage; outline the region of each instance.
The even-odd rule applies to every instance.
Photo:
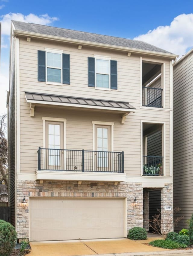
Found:
[[[38,170],[124,173],[124,152],[38,149]]]

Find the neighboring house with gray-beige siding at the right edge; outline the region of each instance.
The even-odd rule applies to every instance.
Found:
[[[187,228],[193,213],[193,49],[174,63],[173,182],[174,206],[184,216],[176,231]]]

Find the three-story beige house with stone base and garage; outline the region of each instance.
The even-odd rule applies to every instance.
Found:
[[[121,238],[172,216],[175,54],[11,23],[9,192],[18,238]],[[171,226],[172,229],[172,226]]]

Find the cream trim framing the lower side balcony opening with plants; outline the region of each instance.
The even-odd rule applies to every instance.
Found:
[[[163,175],[166,175],[166,122],[141,120],[141,176],[143,176],[143,123],[160,124],[162,127],[162,140],[163,140]]]

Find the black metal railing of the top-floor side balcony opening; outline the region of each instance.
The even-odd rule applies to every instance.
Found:
[[[162,108],[162,91],[161,88],[142,87],[143,102],[146,107]]]

